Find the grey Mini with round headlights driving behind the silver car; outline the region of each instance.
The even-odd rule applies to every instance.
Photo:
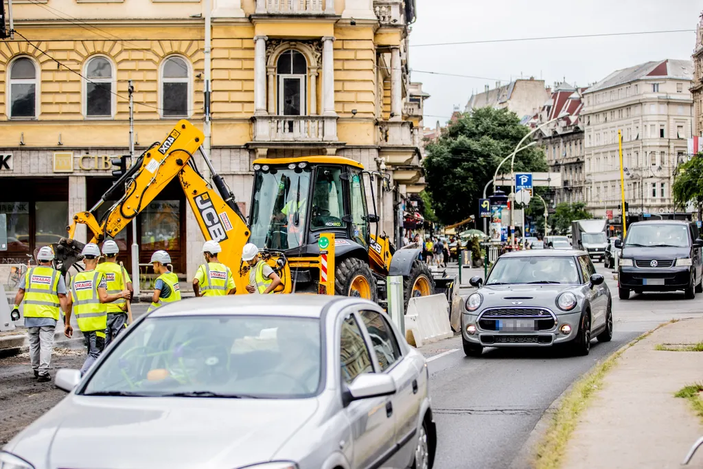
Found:
[[[527,250],[498,257],[486,283],[467,297],[461,318],[464,352],[484,347],[566,344],[587,355],[591,338],[612,339],[613,315],[605,278],[585,251]]]

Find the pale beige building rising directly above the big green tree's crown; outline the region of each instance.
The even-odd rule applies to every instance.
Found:
[[[472,94],[466,104],[465,112],[486,106],[496,109],[507,108],[517,114],[520,120],[526,122],[542,108],[550,95],[551,91],[545,87],[544,80],[534,79],[534,77],[516,79],[508,84],[496,82],[494,89],[486,85],[482,93]]]

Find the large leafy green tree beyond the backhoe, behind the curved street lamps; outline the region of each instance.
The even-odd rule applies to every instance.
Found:
[[[437,142],[427,145],[425,181],[442,224],[453,224],[472,214],[478,219],[478,200],[484,186],[493,179],[501,160],[529,131],[515,113],[480,108],[462,115]],[[523,145],[527,143],[529,139]],[[547,170],[541,148],[527,148],[515,156],[516,172]],[[510,172],[510,162],[501,167],[501,172]]]

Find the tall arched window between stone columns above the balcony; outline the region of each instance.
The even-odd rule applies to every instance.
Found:
[[[307,60],[295,50],[278,57],[278,115],[305,115],[307,96]]]

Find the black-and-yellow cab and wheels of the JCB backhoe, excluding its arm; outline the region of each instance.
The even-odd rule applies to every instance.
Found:
[[[388,275],[404,276],[406,303],[413,296],[431,295],[432,274],[418,259],[418,250],[396,252],[387,236],[378,234],[376,177],[387,188],[385,174],[364,171],[348,158],[255,160],[250,242],[285,253],[296,292],[318,290],[318,240],[322,233],[334,233],[337,295],[384,303]],[[368,213],[367,187],[373,214]]]

